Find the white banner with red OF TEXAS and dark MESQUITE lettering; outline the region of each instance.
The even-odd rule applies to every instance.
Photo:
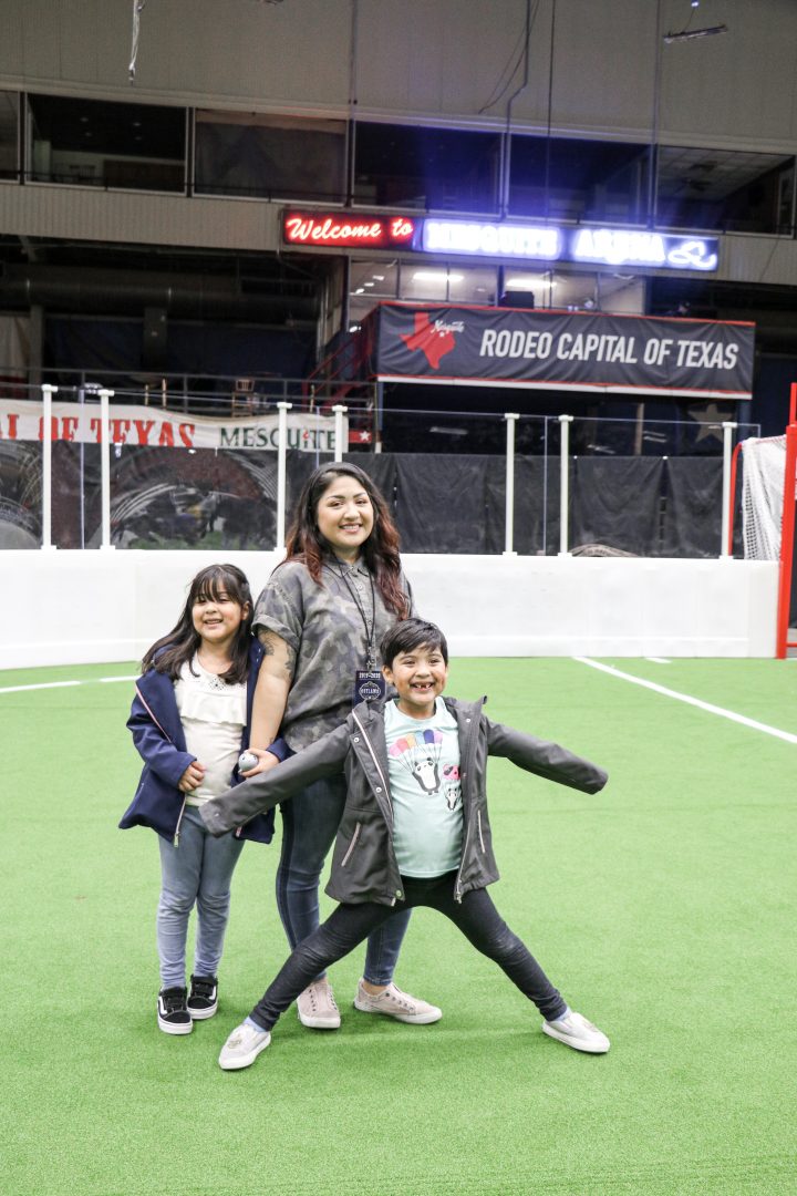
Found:
[[[217,420],[183,415],[152,407],[110,407],[109,432],[114,445],[149,448],[265,448],[278,447],[276,415]],[[288,448],[335,452],[335,419],[329,415],[287,413]],[[0,440],[41,440],[42,403],[0,399]],[[51,408],[51,439],[100,444],[102,425],[97,403],[60,403]],[[348,422],[343,421],[343,446],[348,448]]]

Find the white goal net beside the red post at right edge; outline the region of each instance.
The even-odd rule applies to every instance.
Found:
[[[780,557],[786,438],[750,437],[742,444],[742,538],[744,559]]]

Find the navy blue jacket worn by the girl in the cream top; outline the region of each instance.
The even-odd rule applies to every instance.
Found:
[[[246,726],[241,734],[241,751],[249,748],[252,701],[262,660],[263,648],[253,639],[249,651]],[[177,788],[177,782],[196,756],[185,750],[185,734],[177,709],[174,684],[166,673],[149,669],[139,679],[127,725],[133,732],[133,742],[145,767],[135,797],[125,810],[119,826],[123,830],[129,826],[151,826],[170,842],[177,842],[185,807],[185,794]],[[281,759],[290,755],[288,745],[281,739],[271,744],[269,751]],[[233,785],[239,785],[240,781],[235,765]],[[270,843],[274,837],[274,811],[256,816],[235,834],[241,838]]]

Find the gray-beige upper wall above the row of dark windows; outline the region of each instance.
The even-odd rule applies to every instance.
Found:
[[[660,55],[662,142],[793,153],[793,0],[703,0],[697,13],[688,0],[539,0],[532,12],[517,128],[649,141]],[[0,86],[337,116],[356,99],[362,116],[489,127],[522,81],[502,89],[526,0],[153,0],[133,87],[130,14],[124,0],[4,0]],[[729,32],[664,45],[689,18]]]

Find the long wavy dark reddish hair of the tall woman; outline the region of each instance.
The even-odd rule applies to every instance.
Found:
[[[309,475],[288,529],[286,561],[301,561],[307,566],[313,581],[321,585],[321,567],[324,556],[330,554],[330,547],[318,530],[318,504],[330,482],[341,476],[354,477],[370,499],[374,526],[362,545],[362,555],[385,605],[399,618],[404,618],[410,614],[410,599],[401,588],[398,529],[391,519],[385,499],[358,465],[349,462],[327,463]]]

